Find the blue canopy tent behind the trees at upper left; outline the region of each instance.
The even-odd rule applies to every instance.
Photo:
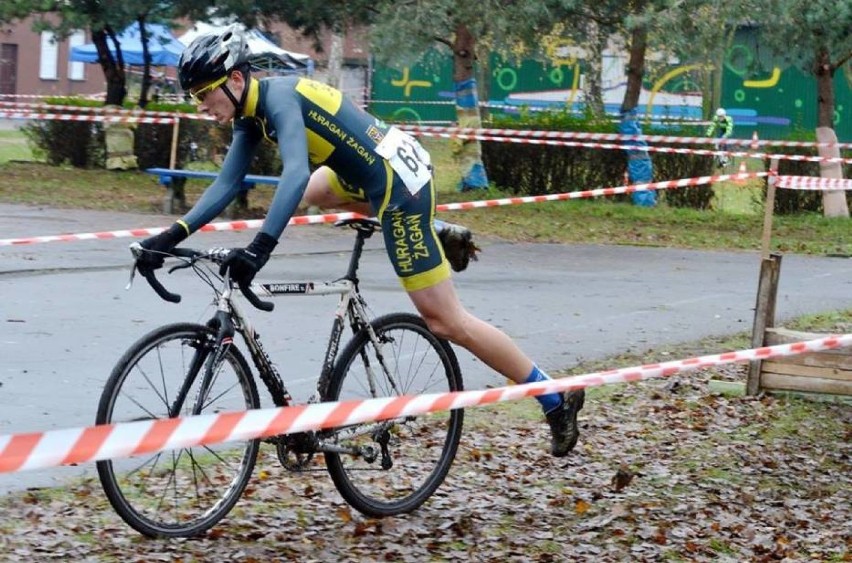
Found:
[[[168,27],[162,24],[146,23],[145,33],[148,36],[148,53],[151,56],[151,64],[154,66],[177,66],[184,45],[175,39]],[[121,45],[121,55],[124,63],[142,66],[145,58],[142,51],[142,34],[139,32],[139,23],[133,23],[126,27],[116,37]],[[107,40],[107,45],[115,54],[115,46],[112,40]],[[94,43],[80,45],[71,49],[68,57],[73,62],[96,63],[98,62],[98,50]]]

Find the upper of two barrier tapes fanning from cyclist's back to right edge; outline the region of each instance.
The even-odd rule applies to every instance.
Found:
[[[647,141],[649,143],[712,144],[708,137],[680,137],[675,135],[621,135],[618,133],[584,133],[581,131],[536,131],[528,129],[487,129],[476,127],[434,127],[422,125],[397,125],[410,133],[449,133],[452,135],[491,135],[497,137],[529,137],[533,139],[578,139],[583,141]],[[839,147],[852,148],[852,143],[811,143],[805,141],[771,141],[755,139],[725,139],[728,145],[749,147]]]

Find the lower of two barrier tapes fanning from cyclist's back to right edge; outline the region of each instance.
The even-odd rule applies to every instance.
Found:
[[[759,158],[778,160],[799,160],[806,162],[841,162],[844,164],[852,163],[852,158],[843,157],[821,157],[821,156],[804,156],[798,154],[767,154],[760,152],[742,152],[742,151],[716,151],[709,149],[676,149],[672,147],[637,147],[635,145],[616,145],[612,143],[585,143],[580,141],[564,141],[559,139],[533,139],[526,137],[500,137],[492,135],[469,135],[461,133],[429,133],[421,131],[418,133],[424,137],[439,137],[442,139],[470,139],[476,141],[492,141],[498,143],[517,143],[526,145],[550,145],[557,147],[587,147],[593,149],[606,150],[633,150],[647,152],[662,152],[675,154],[701,154],[701,155],[727,155],[731,157],[743,158]]]

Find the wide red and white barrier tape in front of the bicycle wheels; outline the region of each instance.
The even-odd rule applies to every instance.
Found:
[[[28,469],[43,469],[58,465],[152,454],[202,444],[213,445],[235,440],[265,438],[279,434],[404,418],[430,412],[513,401],[570,389],[632,383],[668,377],[676,373],[710,366],[749,360],[766,360],[850,345],[852,345],[852,334],[843,334],[794,344],[780,344],[687,360],[613,369],[483,391],[458,391],[320,403],[187,418],[146,420],[46,432],[9,434],[0,436],[0,473],[15,473]]]

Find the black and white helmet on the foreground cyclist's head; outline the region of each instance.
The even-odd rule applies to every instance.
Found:
[[[196,37],[178,61],[180,87],[188,91],[221,78],[248,63],[249,55],[245,34],[236,25]]]

